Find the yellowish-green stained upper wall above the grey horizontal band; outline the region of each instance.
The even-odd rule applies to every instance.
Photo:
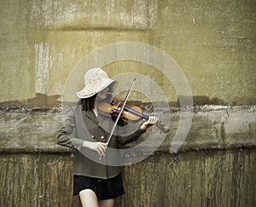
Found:
[[[192,94],[205,97],[195,101],[253,104],[255,10],[253,0],[1,1],[0,102],[58,106],[67,76],[81,58],[108,44],[136,42],[176,60]],[[121,61],[105,69],[110,76],[146,74],[169,101],[177,101],[172,83],[155,68]]]

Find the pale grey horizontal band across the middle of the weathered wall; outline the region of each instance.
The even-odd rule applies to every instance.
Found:
[[[189,134],[179,151],[256,146],[255,106],[198,106],[193,110]],[[162,140],[159,147],[161,152],[169,152],[171,144],[178,145],[179,141],[183,140],[182,137],[177,137],[176,143],[174,137],[178,128],[187,128],[186,125],[180,125],[184,113],[186,112],[181,112],[178,108],[172,108],[170,132],[167,135],[160,133],[160,130],[148,132],[154,133],[153,145],[156,146],[158,140]],[[147,110],[145,114],[152,115]],[[58,146],[55,140],[57,130],[63,124],[64,113],[61,108],[15,108],[0,111],[0,115],[0,152],[63,151],[63,147]],[[142,143],[141,149],[147,150],[148,144],[143,142],[146,137],[148,134],[143,135],[141,141],[133,145]]]

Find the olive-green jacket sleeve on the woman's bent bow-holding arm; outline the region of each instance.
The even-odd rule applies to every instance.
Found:
[[[81,149],[84,140],[76,138],[76,126],[73,109],[67,113],[64,118],[64,126],[59,129],[57,135],[57,144],[64,147],[72,147],[78,150]]]

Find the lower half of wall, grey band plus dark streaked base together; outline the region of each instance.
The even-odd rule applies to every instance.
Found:
[[[158,150],[125,167],[126,193],[116,206],[254,206],[255,106],[195,107],[187,139],[170,154],[182,114],[173,108],[171,131]],[[61,117],[59,108],[1,112],[1,206],[80,205],[72,195],[73,151],[55,143]],[[147,154],[142,145],[124,156]]]

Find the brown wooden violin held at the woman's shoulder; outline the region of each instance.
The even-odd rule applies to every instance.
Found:
[[[118,116],[120,112],[120,108],[123,106],[123,102],[119,101],[118,98],[114,97],[110,103],[108,102],[100,102],[98,104],[98,111],[102,115],[106,116]],[[123,112],[121,113],[121,118],[125,122],[131,122],[131,123],[137,123],[138,121],[142,120],[143,118],[148,120],[148,116],[143,114],[143,109],[139,106],[127,106],[125,105],[125,108]],[[160,124],[160,122],[157,122],[155,124],[162,132],[168,133],[169,128],[163,126]]]

